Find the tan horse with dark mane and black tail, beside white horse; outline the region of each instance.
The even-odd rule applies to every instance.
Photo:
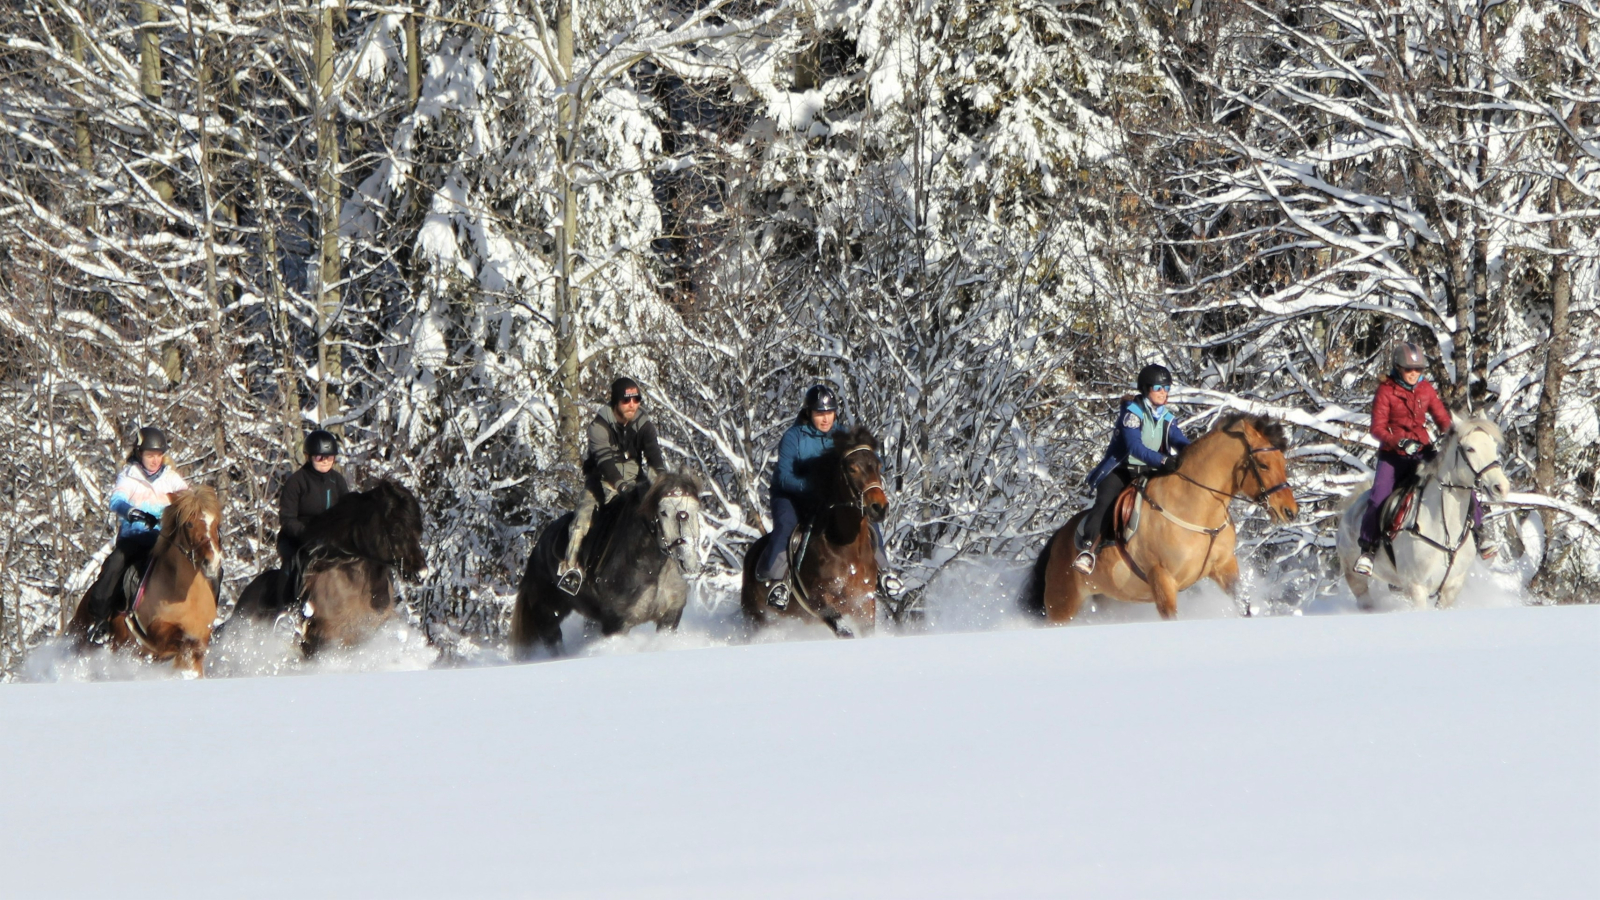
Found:
[[[1285,450],[1288,439],[1280,423],[1245,413],[1224,416],[1182,450],[1176,472],[1128,488],[1133,493],[1125,493],[1117,508],[1125,508],[1130,496],[1136,501],[1138,530],[1126,541],[1101,544],[1093,575],[1072,565],[1072,535],[1086,512],[1062,525],[1034,562],[1022,609],[1062,625],[1078,615],[1086,597],[1107,594],[1154,602],[1162,618],[1173,618],[1178,593],[1202,578],[1234,596],[1238,559],[1229,504],[1254,500],[1278,524],[1299,514]]]

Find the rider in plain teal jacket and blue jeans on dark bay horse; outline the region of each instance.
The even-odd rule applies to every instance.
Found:
[[[755,577],[766,581],[766,604],[773,609],[789,605],[789,536],[800,525],[800,517],[816,512],[814,482],[816,461],[834,447],[834,424],[838,421],[838,394],[827,384],[813,384],[805,392],[805,405],[795,423],[778,442],[778,463],[773,466],[770,503],[773,530],[766,549],[755,567]],[[888,572],[888,552],[883,549],[883,532],[872,525],[872,548],[878,562],[878,589],[894,594],[899,578]]]

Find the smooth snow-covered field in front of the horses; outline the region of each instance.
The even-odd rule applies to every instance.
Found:
[[[742,644],[712,591],[526,666],[350,671],[426,666],[405,629],[315,677],[46,652],[146,677],[0,687],[5,894],[1600,895],[1600,609],[1045,629],[1018,578],[854,642]]]

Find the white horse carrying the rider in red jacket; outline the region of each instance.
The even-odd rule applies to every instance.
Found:
[[[1504,436],[1493,421],[1456,415],[1438,453],[1418,468],[1416,520],[1373,554],[1371,575],[1355,573],[1355,559],[1362,554],[1362,514],[1371,482],[1350,493],[1339,517],[1338,551],[1344,580],[1363,610],[1373,609],[1368,593],[1374,578],[1400,589],[1416,609],[1456,602],[1477,552],[1472,493],[1483,488],[1488,500],[1510,493],[1510,480],[1499,461],[1502,442]],[[1402,490],[1403,485],[1395,487],[1395,493]]]

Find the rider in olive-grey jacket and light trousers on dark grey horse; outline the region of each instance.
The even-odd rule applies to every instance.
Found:
[[[578,551],[594,524],[595,509],[635,482],[650,482],[667,469],[656,439],[656,423],[645,413],[638,383],[626,375],[611,383],[611,402],[589,423],[589,456],[584,460],[584,490],[578,496],[566,557],[557,586],[576,594],[584,585]],[[650,474],[643,463],[650,464]]]

